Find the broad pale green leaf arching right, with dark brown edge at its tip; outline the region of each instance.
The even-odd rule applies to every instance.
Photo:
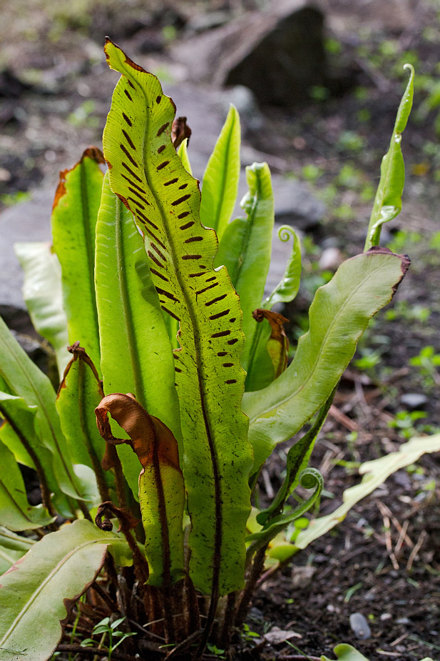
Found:
[[[327,401],[369,319],[391,301],[408,267],[407,257],[373,248],[347,259],[319,287],[292,363],[270,386],[243,398],[255,470]]]

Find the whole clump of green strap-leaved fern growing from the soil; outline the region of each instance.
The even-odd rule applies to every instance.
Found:
[[[73,607],[89,635],[117,617],[126,634],[120,649],[133,657],[198,659],[208,642],[228,650],[270,545],[319,497],[322,477],[307,467],[317,434],[359,337],[409,266],[379,247],[379,237],[401,206],[400,135],[414,71],[366,252],[318,289],[309,331],[287,367],[285,319],[272,307],[297,294],[300,243],[282,228],[292,254],[265,297],[270,172],[266,164],[247,168],[245,217],[230,222],[237,111],[230,109],[200,197],[189,129],[175,120],[173,101],[109,39],[105,52],[121,78],[103,155],[89,148],[61,173],[53,248],[17,247],[31,318],[56,352],[58,394],[0,322],[4,661],[83,653],[76,630],[66,642],[65,627],[60,642]],[[265,460],[306,424],[280,492],[251,515]],[[17,462],[36,470],[41,505],[29,505]],[[298,485],[309,497],[290,507]],[[281,560],[300,547],[285,542]]]

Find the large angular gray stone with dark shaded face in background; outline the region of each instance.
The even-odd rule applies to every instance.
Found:
[[[175,45],[192,81],[245,85],[260,104],[295,106],[327,71],[324,15],[307,0],[276,0],[230,24]]]

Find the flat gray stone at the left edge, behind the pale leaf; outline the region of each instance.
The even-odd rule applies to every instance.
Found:
[[[53,190],[40,189],[29,202],[21,202],[0,214],[0,304],[24,308],[23,274],[14,243],[51,240]]]

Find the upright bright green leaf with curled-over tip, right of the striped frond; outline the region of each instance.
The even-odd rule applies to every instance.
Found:
[[[246,218],[237,218],[225,229],[215,264],[224,264],[237,294],[243,312],[245,350],[242,366],[250,369],[252,341],[257,323],[252,312],[261,307],[265,283],[270,266],[274,202],[270,170],[266,163],[254,163],[246,168],[249,191],[241,205]]]

